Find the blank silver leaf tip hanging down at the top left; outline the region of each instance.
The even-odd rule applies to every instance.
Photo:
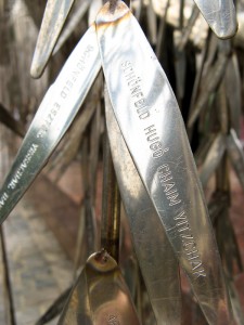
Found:
[[[30,67],[30,75],[39,78],[52,54],[74,0],[48,0]]]

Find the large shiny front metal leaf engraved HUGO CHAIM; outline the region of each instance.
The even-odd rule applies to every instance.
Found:
[[[208,323],[231,324],[213,227],[169,82],[124,2],[103,6],[97,31],[116,119],[174,251]]]

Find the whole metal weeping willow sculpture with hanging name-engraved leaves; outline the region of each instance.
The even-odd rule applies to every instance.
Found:
[[[0,73],[8,76],[0,121],[25,136],[2,183],[1,222],[48,160],[56,180],[74,159],[84,176],[76,259],[82,271],[37,324],[61,310],[59,324],[181,324],[179,269],[197,300],[195,324],[243,324],[233,284],[234,270],[243,269],[229,218],[230,165],[244,186],[242,3],[234,36],[232,1],[131,1],[130,10],[123,1],[73,2],[48,1],[44,13],[31,1],[0,6]],[[28,12],[26,35],[23,18],[13,21],[20,9]],[[30,67],[26,53],[33,55],[38,30]],[[42,76],[31,81],[29,70]],[[119,192],[130,233],[123,222],[119,232]],[[119,264],[127,236],[133,249]]]

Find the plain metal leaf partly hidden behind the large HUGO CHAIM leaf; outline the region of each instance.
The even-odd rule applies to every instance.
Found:
[[[181,290],[177,259],[128,152],[106,91],[105,104],[117,181],[156,324],[181,324]]]

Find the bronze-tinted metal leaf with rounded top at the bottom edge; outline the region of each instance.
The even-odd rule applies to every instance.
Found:
[[[119,268],[106,251],[88,259],[57,324],[140,324]]]

